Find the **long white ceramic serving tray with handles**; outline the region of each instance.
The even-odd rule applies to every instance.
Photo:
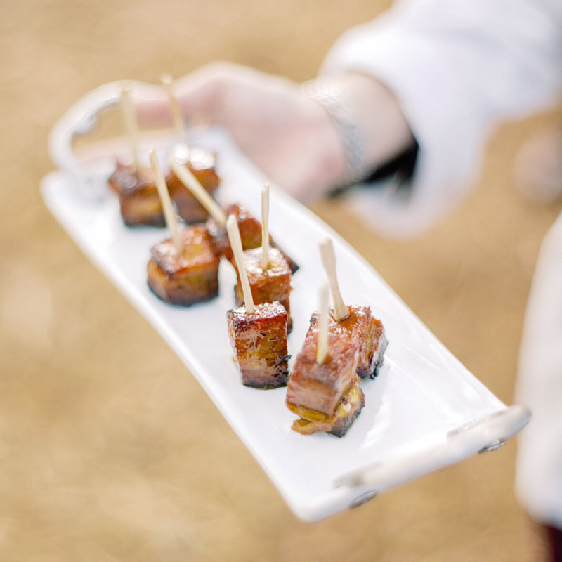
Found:
[[[99,93],[96,99],[97,107]],[[285,407],[285,388],[263,391],[240,383],[226,325],[226,311],[234,305],[233,268],[221,263],[217,299],[189,308],[157,299],[146,283],[146,263],[152,245],[167,237],[166,230],[124,226],[117,197],[103,177],[101,186],[98,177],[95,192],[90,187],[94,197],[84,191],[89,186],[77,176],[80,162],[68,163],[69,152],[63,154],[72,138],[69,127],[81,124],[73,111],[53,129],[51,154],[65,169],[42,182],[48,208],[185,362],[297,516],[325,518],[480,450],[497,448],[525,425],[526,410],[498,400],[349,244],[273,187],[270,232],[301,266],[292,280],[289,353],[293,358],[298,353],[318,287],[325,281],[318,242],[326,237],[334,242],[344,301],[370,306],[390,342],[379,376],[361,382],[365,408],[346,436],[292,431],[295,417]],[[221,200],[240,202],[259,217],[266,178],[220,131],[208,131],[199,143],[218,152]],[[162,144],[160,148],[164,150]],[[97,170],[103,169],[106,177],[112,159],[100,162]]]

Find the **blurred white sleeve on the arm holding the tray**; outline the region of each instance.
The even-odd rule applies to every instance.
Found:
[[[336,41],[322,73],[346,71],[393,91],[420,148],[407,195],[357,190],[351,202],[382,233],[413,235],[468,190],[494,124],[556,100],[562,2],[403,1]]]

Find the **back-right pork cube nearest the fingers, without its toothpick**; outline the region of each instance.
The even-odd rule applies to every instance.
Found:
[[[214,195],[218,185],[221,183],[215,171],[215,156],[211,152],[207,152],[207,150],[188,147],[184,147],[183,150],[175,150],[174,155],[178,157],[183,165],[188,167],[209,194]],[[168,186],[171,199],[176,204],[179,216],[186,223],[204,223],[207,221],[207,218],[209,218],[207,210],[197,200],[197,197],[183,185],[173,171],[169,171],[169,174],[166,176],[166,185]]]

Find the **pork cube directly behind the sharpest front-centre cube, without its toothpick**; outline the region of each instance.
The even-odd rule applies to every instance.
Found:
[[[238,273],[236,261],[233,261]],[[269,249],[269,267],[261,269],[261,247],[244,251],[244,265],[248,274],[251,296],[254,303],[270,303],[279,301],[287,311],[287,333],[293,329],[293,319],[289,306],[291,293],[291,270],[285,257],[277,248]],[[244,302],[240,275],[234,287],[236,305]]]

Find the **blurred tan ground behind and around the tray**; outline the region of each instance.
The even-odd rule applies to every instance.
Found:
[[[49,129],[90,89],[233,60],[301,81],[386,1],[3,0],[0,560],[529,561],[516,444],[302,523],[183,364],[44,207]],[[411,242],[314,210],[511,403],[525,299],[560,204],[511,162],[556,112],[504,126],[464,206]],[[558,112],[559,115],[559,112]]]

